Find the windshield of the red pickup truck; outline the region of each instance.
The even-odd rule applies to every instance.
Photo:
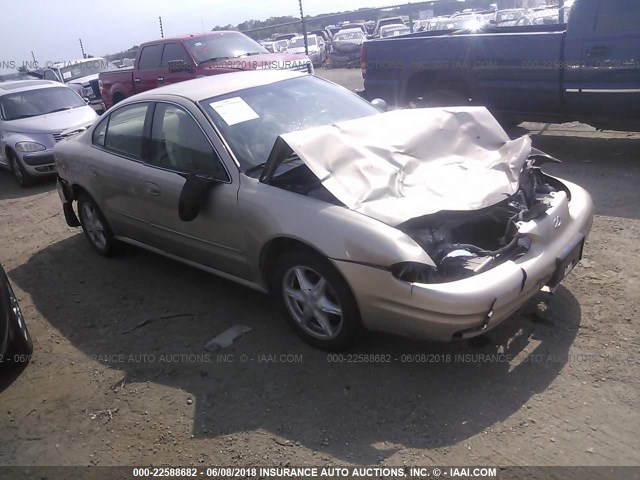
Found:
[[[184,44],[198,63],[269,53],[258,42],[240,32],[223,32],[191,38],[185,40]]]

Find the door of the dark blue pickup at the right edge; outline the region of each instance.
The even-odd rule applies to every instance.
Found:
[[[580,113],[639,117],[640,1],[599,0],[595,22],[587,28],[590,32],[585,32],[582,45]]]

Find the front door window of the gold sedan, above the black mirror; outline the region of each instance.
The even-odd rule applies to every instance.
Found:
[[[221,160],[196,121],[183,109],[158,103],[148,163],[178,172],[227,178]]]

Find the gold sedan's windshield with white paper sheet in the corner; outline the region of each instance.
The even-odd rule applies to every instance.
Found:
[[[278,135],[380,113],[359,96],[312,76],[200,102],[243,170],[267,161]]]

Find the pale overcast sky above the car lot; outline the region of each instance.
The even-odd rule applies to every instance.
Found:
[[[303,0],[305,15],[361,7],[393,5],[394,0]],[[297,0],[2,0],[0,72],[9,73],[31,61],[33,50],[42,65],[72,61],[86,53],[102,56],[160,37],[236,25],[244,20],[299,15]]]

